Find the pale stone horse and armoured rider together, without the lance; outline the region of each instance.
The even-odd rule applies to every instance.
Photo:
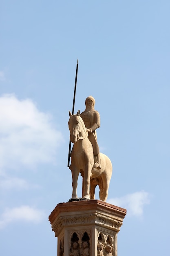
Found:
[[[99,186],[99,198],[106,202],[108,188],[112,175],[110,159],[99,152],[96,129],[100,127],[100,115],[94,108],[95,99],[89,96],[85,101],[86,109],[76,115],[69,111],[68,127],[70,140],[74,144],[71,151],[71,165],[73,193],[71,201],[77,198],[77,180],[81,173],[82,200],[95,199],[95,188]]]

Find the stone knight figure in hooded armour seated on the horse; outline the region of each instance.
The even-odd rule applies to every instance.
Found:
[[[80,114],[86,130],[88,132],[88,139],[91,141],[93,146],[93,153],[95,157],[95,162],[93,168],[100,169],[100,155],[99,146],[97,144],[97,133],[96,129],[100,127],[100,115],[99,112],[95,110],[95,99],[92,96],[87,97],[85,101],[86,109]]]

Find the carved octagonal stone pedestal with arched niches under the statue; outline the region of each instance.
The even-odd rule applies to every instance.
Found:
[[[117,256],[125,215],[126,209],[100,200],[57,204],[49,216],[58,238],[57,256]]]

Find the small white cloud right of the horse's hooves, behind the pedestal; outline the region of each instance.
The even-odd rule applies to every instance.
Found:
[[[143,215],[144,205],[150,203],[150,194],[145,191],[139,191],[121,198],[109,199],[107,202],[126,208],[128,216],[140,217]]]

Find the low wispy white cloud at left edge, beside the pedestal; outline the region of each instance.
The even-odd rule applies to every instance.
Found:
[[[1,215],[0,228],[4,228],[8,223],[15,221],[26,221],[39,223],[45,217],[44,211],[31,208],[28,205],[6,209]]]

